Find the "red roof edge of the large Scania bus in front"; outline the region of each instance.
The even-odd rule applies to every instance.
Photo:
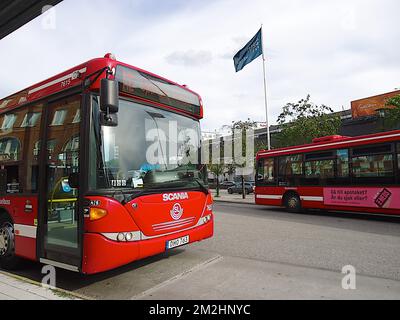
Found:
[[[0,99],[0,114],[21,107],[23,105],[32,103],[34,101],[43,99],[46,96],[60,93],[68,89],[82,85],[86,77],[90,76],[92,79],[95,77],[93,73],[96,73],[97,71],[100,71],[101,69],[106,67],[115,70],[117,66],[124,66],[132,70],[136,70],[151,77],[160,79],[168,84],[175,85],[180,89],[184,90],[185,92],[195,95],[198,98],[199,106],[201,109],[199,118],[202,118],[203,116],[202,100],[199,94],[188,89],[186,86],[177,84],[171,80],[160,77],[154,73],[117,61],[112,54],[106,54],[104,58],[96,58],[89,60],[76,67],[70,68],[62,73],[59,73],[51,78],[48,78],[47,80],[41,81],[33,86],[21,90],[13,95]],[[99,77],[99,79],[97,79],[94,83],[91,84],[90,90],[99,90],[101,78],[104,78],[104,73],[102,77]],[[182,111],[182,110],[177,110],[177,111]]]

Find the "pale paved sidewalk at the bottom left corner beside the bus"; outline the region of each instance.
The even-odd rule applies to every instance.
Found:
[[[0,271],[0,300],[80,300],[59,289],[46,289],[35,281]]]

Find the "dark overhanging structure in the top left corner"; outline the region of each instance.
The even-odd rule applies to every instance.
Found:
[[[1,0],[0,40],[42,14],[46,5],[55,6],[62,0]]]

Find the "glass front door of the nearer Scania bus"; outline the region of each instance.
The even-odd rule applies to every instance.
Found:
[[[48,106],[46,128],[45,202],[42,208],[42,250],[40,261],[79,271],[78,189],[70,178],[79,174],[80,96]]]

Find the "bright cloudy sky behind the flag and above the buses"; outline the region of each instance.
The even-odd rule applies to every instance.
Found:
[[[0,98],[108,52],[186,84],[204,131],[265,122],[262,59],[233,56],[263,24],[270,123],[311,95],[334,110],[400,88],[398,0],[64,0],[0,40]]]

